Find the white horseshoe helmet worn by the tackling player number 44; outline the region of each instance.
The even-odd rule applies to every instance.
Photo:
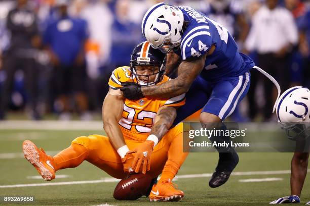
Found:
[[[165,3],[151,7],[144,15],[142,34],[153,48],[168,53],[181,43],[184,16],[182,11]]]

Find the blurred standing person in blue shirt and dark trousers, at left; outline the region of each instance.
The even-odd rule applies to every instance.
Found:
[[[53,65],[50,85],[52,102],[63,120],[70,119],[70,112],[74,111],[75,106],[82,117],[88,116],[84,50],[88,38],[87,23],[70,17],[67,4],[65,0],[57,1],[59,17],[44,32],[44,42]]]

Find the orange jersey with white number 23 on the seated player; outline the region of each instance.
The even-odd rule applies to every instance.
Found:
[[[111,89],[119,89],[123,82],[133,82],[130,77],[129,67],[119,67],[112,72],[109,79]],[[169,77],[164,78],[158,84],[169,81]],[[153,126],[158,110],[163,106],[180,107],[185,104],[185,94],[173,98],[143,97],[138,100],[124,100],[124,110],[119,122],[124,138],[144,141],[151,127]]]

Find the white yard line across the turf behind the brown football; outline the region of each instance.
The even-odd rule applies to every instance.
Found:
[[[310,172],[310,169],[308,169]],[[290,174],[290,170],[277,170],[277,171],[254,171],[254,172],[233,172],[232,176],[245,176],[245,175],[270,175],[270,174]],[[192,175],[177,175],[174,180],[184,178],[199,178],[211,177],[212,173],[192,174]],[[55,182],[55,183],[38,183],[38,184],[17,184],[17,185],[0,185],[0,188],[15,188],[15,187],[36,187],[36,186],[52,186],[52,185],[72,185],[72,184],[92,184],[103,182],[118,182],[119,179],[107,177],[100,180],[86,180],[86,181],[71,181],[71,182]]]

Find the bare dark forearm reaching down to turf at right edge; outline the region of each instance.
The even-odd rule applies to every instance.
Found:
[[[291,162],[291,195],[300,197],[307,174],[308,153],[295,152]]]

